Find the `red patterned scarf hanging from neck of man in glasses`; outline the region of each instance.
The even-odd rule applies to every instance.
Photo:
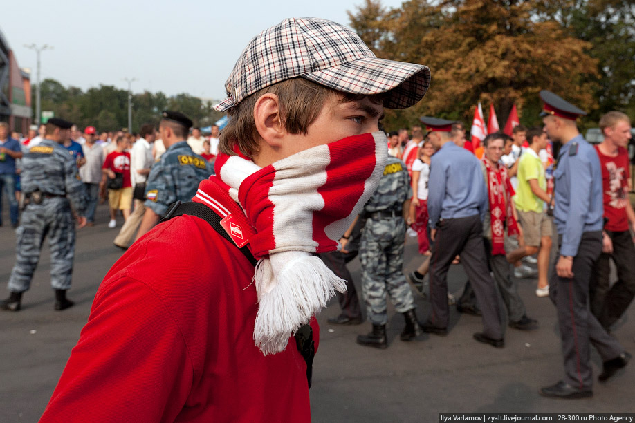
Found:
[[[487,169],[487,194],[490,202],[490,221],[492,227],[492,255],[505,254],[505,225],[508,236],[518,234],[518,226],[511,208],[511,197],[514,189],[507,171],[503,166],[498,169],[490,164],[486,156],[481,159]]]

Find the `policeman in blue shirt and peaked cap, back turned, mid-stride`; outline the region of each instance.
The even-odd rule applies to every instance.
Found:
[[[487,266],[483,220],[488,211],[487,189],[479,160],[450,140],[449,120],[421,118],[438,151],[430,164],[427,196],[429,225],[434,241],[430,259],[430,305],[425,332],[448,333],[448,269],[457,254],[475,290],[483,314],[483,332],[474,338],[502,348],[505,345],[499,300]]]

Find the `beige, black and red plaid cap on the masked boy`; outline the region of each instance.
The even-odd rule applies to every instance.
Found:
[[[378,59],[339,23],[291,18],[249,42],[225,83],[228,97],[214,109],[227,111],[262,88],[295,77],[344,93],[387,93],[387,109],[416,104],[430,86],[425,65]]]

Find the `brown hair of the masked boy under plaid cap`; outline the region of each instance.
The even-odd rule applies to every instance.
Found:
[[[267,93],[277,95],[282,124],[286,131],[304,135],[333,94],[339,97],[340,102],[361,100],[364,97],[369,97],[376,104],[382,102],[382,94],[366,96],[342,93],[302,77],[286,79],[262,88],[228,111],[230,120],[219,135],[219,150],[222,153],[235,155],[235,145],[242,154],[250,158],[259,152],[260,135],[254,120],[254,107],[257,100]]]

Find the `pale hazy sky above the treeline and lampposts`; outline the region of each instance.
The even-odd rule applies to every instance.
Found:
[[[349,25],[347,10],[364,0],[6,0],[0,31],[36,82],[36,54],[48,44],[42,79],[82,90],[99,84],[133,93],[163,91],[221,100],[248,41],[288,17],[321,17]],[[387,8],[400,0],[383,0]]]

